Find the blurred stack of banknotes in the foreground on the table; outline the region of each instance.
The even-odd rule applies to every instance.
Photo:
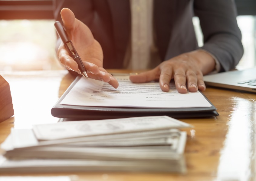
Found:
[[[186,171],[186,132],[168,116],[69,121],[11,129],[0,172]]]

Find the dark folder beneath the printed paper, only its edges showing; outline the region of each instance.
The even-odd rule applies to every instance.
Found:
[[[74,87],[81,76],[77,76],[57,103],[52,107],[51,114],[65,120],[99,120],[117,119],[139,116],[170,116],[172,118],[202,118],[218,116],[216,107],[200,92],[211,104],[211,107],[188,108],[139,108],[139,107],[105,107],[105,106],[75,106],[61,104],[61,101]]]

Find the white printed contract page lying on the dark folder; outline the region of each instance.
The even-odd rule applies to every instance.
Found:
[[[117,89],[103,81],[80,78],[61,101],[61,104],[140,108],[212,106],[199,91],[186,94],[178,93],[174,83],[170,83],[169,92],[163,92],[159,82],[132,83],[128,75],[117,75],[115,78],[119,82]]]

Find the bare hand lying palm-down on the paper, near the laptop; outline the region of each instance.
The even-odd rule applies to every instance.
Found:
[[[204,91],[203,75],[213,71],[214,68],[215,60],[210,54],[195,50],[166,60],[150,71],[131,75],[130,80],[135,83],[159,80],[162,91],[169,91],[169,82],[174,78],[179,93],[187,93],[188,90]]]

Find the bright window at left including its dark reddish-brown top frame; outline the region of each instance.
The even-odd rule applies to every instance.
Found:
[[[51,0],[0,1],[0,70],[61,69]]]

